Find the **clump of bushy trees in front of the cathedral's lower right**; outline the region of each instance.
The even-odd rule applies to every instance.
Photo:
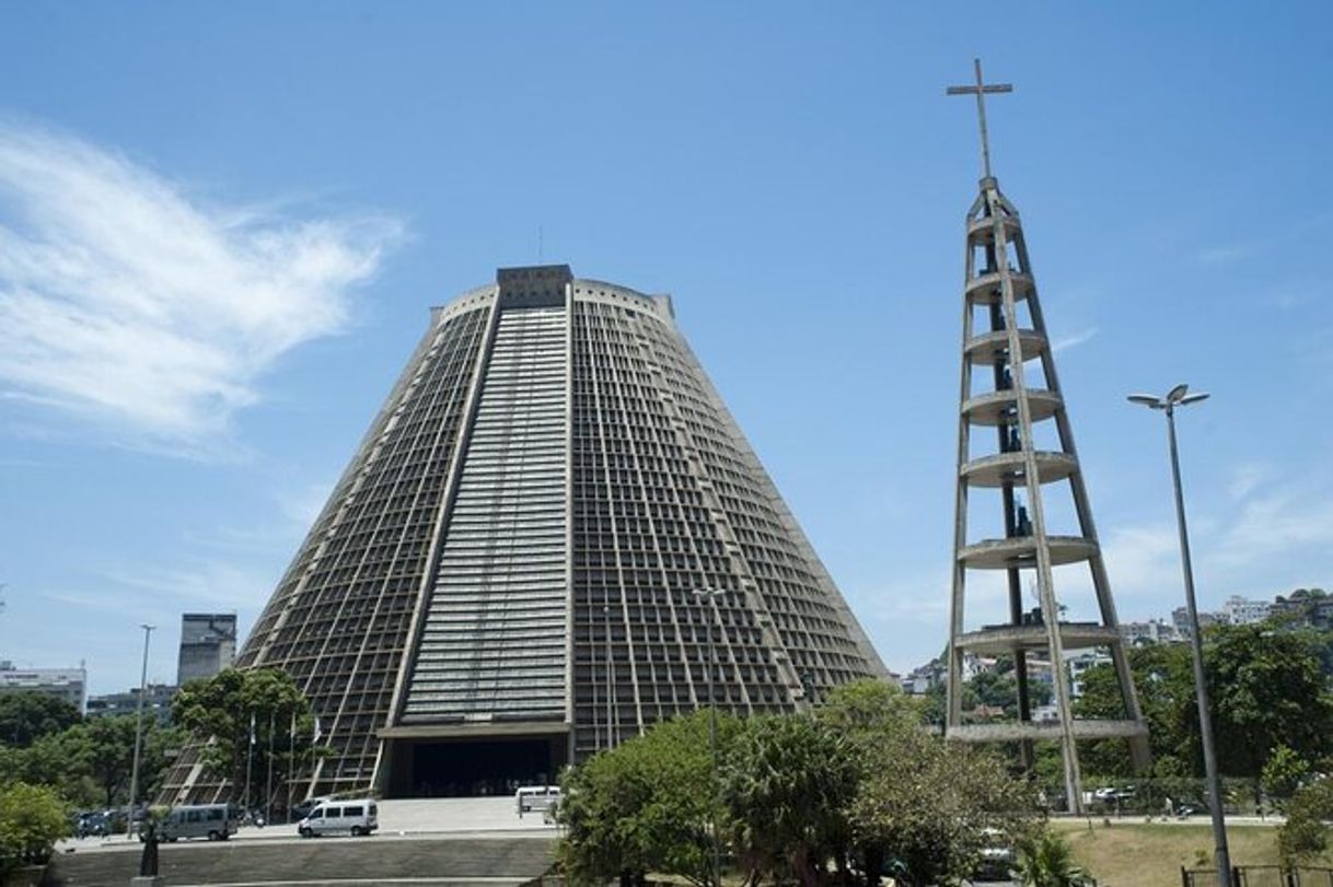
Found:
[[[694,713],[657,725],[567,771],[560,859],[575,883],[708,883],[714,815],[750,883],[820,887],[830,866],[842,883],[856,870],[869,884],[885,870],[904,886],[942,883],[970,874],[996,830],[1018,835],[1037,816],[1026,782],[945,743],[886,682],[841,687],[813,713],[721,715],[721,810],[706,723]]]

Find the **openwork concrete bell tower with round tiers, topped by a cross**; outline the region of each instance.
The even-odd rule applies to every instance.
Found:
[[[960,742],[1017,742],[1028,766],[1034,740],[1060,742],[1069,810],[1077,812],[1082,802],[1077,740],[1125,738],[1136,768],[1145,768],[1148,727],[1110,597],[1022,222],[990,172],[985,96],[1012,92],[1013,87],[985,84],[980,60],[974,65],[974,84],[946,91],[976,96],[982,177],[966,217],[945,735]],[[1053,510],[1048,510],[1061,494],[1068,502],[1068,527],[1054,527]],[[986,523],[990,533],[974,537],[969,518],[974,525]],[[1056,567],[1066,565],[1081,565],[1090,574],[1098,614],[1093,622],[1072,622],[1064,615]],[[966,619],[968,578],[981,571],[1004,577],[1009,607],[1002,623],[970,625]],[[1030,610],[1024,606],[1025,587],[1036,591],[1037,606]],[[1122,719],[1073,717],[1066,661],[1074,650],[1109,657],[1124,701]],[[968,657],[996,654],[1013,659],[1017,719],[969,723],[962,711],[964,663]],[[1032,683],[1042,661],[1050,673],[1054,721],[1033,718]]]

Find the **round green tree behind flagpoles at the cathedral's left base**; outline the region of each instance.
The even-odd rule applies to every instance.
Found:
[[[191,681],[172,701],[172,721],[193,734],[204,768],[228,780],[233,792],[249,782],[247,766],[255,784],[263,784],[259,775],[268,772],[269,750],[276,784],[312,754],[311,705],[280,669],[224,669]]]

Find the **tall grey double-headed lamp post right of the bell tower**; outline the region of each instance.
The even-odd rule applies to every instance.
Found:
[[[1198,630],[1198,607],[1194,603],[1194,569],[1189,559],[1189,531],[1185,527],[1185,495],[1180,485],[1180,451],[1176,447],[1176,408],[1206,400],[1208,394],[1190,394],[1188,385],[1177,385],[1165,397],[1130,394],[1129,401],[1166,413],[1166,440],[1170,444],[1170,471],[1176,487],[1176,523],[1180,529],[1180,559],[1185,573],[1185,609],[1189,614],[1189,643],[1194,659],[1194,694],[1198,697],[1198,731],[1204,740],[1204,774],[1213,796],[1213,844],[1217,883],[1232,887],[1232,862],[1226,850],[1226,815],[1222,811],[1222,780],[1217,775],[1217,752],[1213,748],[1213,715],[1208,703],[1208,681],[1204,675],[1204,639]]]

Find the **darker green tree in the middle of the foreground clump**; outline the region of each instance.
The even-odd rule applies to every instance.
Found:
[[[750,878],[822,884],[846,856],[858,767],[840,731],[805,715],[752,718],[728,750],[724,795]]]

